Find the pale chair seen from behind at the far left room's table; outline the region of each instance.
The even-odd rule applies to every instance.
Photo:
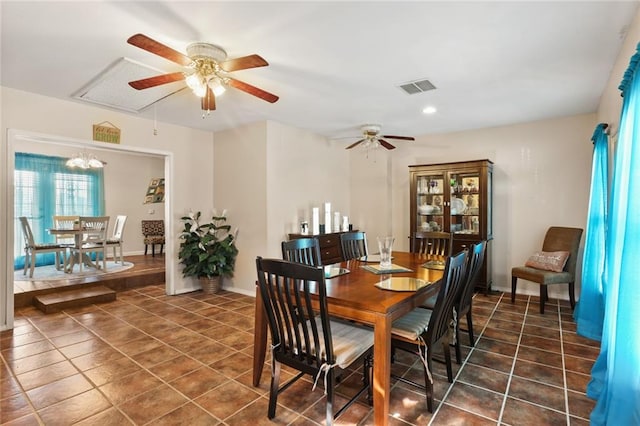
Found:
[[[80,238],[71,249],[72,256],[78,261],[79,270],[90,253],[96,254],[95,266],[99,268],[98,254],[102,253],[102,270],[107,270],[107,230],[109,229],[109,216],[80,216]]]

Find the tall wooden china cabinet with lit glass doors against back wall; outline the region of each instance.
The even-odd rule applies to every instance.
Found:
[[[487,241],[477,288],[488,293],[492,282],[493,163],[478,160],[409,166],[409,185],[410,236],[416,231],[450,232],[453,253]]]

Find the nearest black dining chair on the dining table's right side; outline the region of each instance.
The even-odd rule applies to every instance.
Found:
[[[447,379],[449,383],[453,383],[451,350],[449,348],[451,341],[450,323],[456,295],[460,287],[464,285],[466,268],[466,251],[448,257],[433,310],[416,308],[398,318],[392,324],[392,351],[400,349],[413,354],[419,354],[424,370],[424,386],[405,377],[394,375],[393,378],[424,389],[427,399],[427,409],[431,413],[433,413],[432,358],[434,347],[437,344],[442,345],[447,367]]]

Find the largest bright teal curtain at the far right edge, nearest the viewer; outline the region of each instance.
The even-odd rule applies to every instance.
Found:
[[[640,424],[640,45],[620,84],[622,114],[615,153],[605,263],[600,355],[587,395],[592,425]]]

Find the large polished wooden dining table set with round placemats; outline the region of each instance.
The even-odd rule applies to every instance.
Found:
[[[430,267],[424,267],[429,262]],[[437,263],[436,263],[437,262]],[[391,383],[391,326],[393,321],[420,306],[440,288],[444,259],[407,252],[394,252],[392,263],[410,269],[409,272],[377,274],[365,268],[377,266],[350,260],[333,265],[348,269],[349,272],[326,279],[327,304],[333,316],[353,320],[373,326],[374,331],[374,371],[373,410],[374,424],[386,425],[389,419],[389,392]],[[377,283],[389,278],[418,278],[428,284],[416,291],[383,290]],[[253,347],[253,385],[259,386],[264,367],[267,344],[267,318],[256,287],[255,329]]]

